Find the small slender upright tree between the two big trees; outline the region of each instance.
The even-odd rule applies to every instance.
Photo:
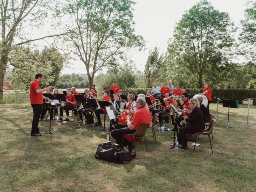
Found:
[[[161,82],[167,78],[166,74],[166,57],[164,54],[159,55],[159,48],[151,49],[144,70],[144,79],[146,86],[153,86],[154,82]]]

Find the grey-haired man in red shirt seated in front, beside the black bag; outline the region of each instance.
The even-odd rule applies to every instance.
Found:
[[[122,144],[122,137],[125,134],[134,134],[140,124],[143,123],[148,123],[149,128],[152,127],[152,122],[151,122],[151,114],[148,109],[145,108],[146,105],[146,100],[142,97],[138,97],[136,100],[136,112],[130,120],[131,116],[127,116],[127,125],[126,124],[117,124],[116,125],[116,130],[113,130],[111,132],[111,135],[113,138],[116,139],[116,143],[121,146]],[[124,138],[123,140],[123,146],[128,145],[128,150],[131,152],[134,149],[134,144]]]

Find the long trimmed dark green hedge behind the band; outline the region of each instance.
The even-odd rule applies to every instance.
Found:
[[[128,91],[132,91],[135,95],[140,93],[145,94],[148,88],[130,88],[129,90],[124,90],[124,94]],[[186,91],[193,97],[195,94],[201,93],[202,89],[199,88],[188,88]],[[242,99],[254,98],[253,104],[256,104],[256,90],[248,89],[212,89],[212,102],[216,103],[217,99],[231,99],[238,100],[239,104],[242,104]]]

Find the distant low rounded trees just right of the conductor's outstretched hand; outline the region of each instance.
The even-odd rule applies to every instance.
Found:
[[[58,88],[88,88],[89,82],[87,78],[84,78],[78,74],[64,74],[60,76],[58,82],[56,83]]]

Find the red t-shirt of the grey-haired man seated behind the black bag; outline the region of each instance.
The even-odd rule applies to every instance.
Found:
[[[131,120],[131,124],[134,125],[134,130],[137,130],[140,124],[150,123],[151,122],[151,114],[146,107],[142,107],[137,110]]]

